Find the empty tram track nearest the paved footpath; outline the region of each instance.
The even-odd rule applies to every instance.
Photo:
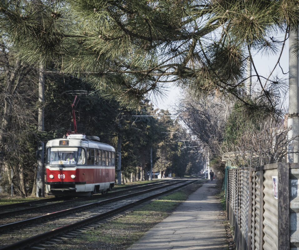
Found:
[[[171,192],[193,181],[196,181],[196,179],[172,182],[162,187],[155,187],[133,194],[122,195],[2,225],[0,226],[0,230],[2,231],[0,245],[3,247],[0,249],[22,249],[26,246],[43,242],[47,238],[62,234],[65,237],[72,237],[72,234],[68,234],[69,231],[76,230],[76,228],[84,228],[86,224],[89,225],[89,228],[95,227],[96,224],[94,223],[96,220],[101,220],[115,213],[121,213],[132,206]]]

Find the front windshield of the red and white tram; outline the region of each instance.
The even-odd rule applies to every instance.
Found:
[[[83,148],[47,149],[47,164],[83,165],[85,164],[85,150]]]

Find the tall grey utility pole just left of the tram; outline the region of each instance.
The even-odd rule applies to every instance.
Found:
[[[38,81],[38,131],[43,132],[45,130],[44,125],[44,103],[45,103],[45,75],[44,66],[39,66],[39,81]],[[36,174],[36,197],[45,196],[45,170],[44,170],[44,143],[38,142],[38,160],[37,160],[37,174]]]

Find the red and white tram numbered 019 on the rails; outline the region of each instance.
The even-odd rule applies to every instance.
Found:
[[[49,140],[46,145],[46,193],[88,196],[111,190],[115,149],[97,136],[79,134]]]

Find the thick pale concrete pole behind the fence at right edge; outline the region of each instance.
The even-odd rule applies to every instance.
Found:
[[[290,30],[289,38],[289,114],[288,114],[288,139],[291,140],[288,147],[288,162],[299,162],[299,116],[298,116],[298,27]],[[296,137],[296,138],[295,138]],[[292,139],[294,138],[294,139]]]

